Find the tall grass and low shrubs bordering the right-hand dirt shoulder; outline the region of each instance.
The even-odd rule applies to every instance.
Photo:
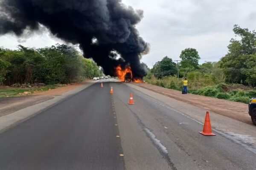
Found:
[[[227,99],[235,102],[248,103],[249,99],[256,97],[256,89],[245,87],[244,85],[227,85],[224,80],[216,80],[209,74],[200,72],[190,72],[187,74],[189,93],[203,96],[216,97],[218,99]],[[157,79],[153,75],[145,79],[146,82],[170,88],[182,90],[182,79],[177,77],[163,77]]]

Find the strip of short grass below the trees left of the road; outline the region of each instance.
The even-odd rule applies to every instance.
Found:
[[[3,89],[0,89],[0,97],[26,96],[38,91],[48,91],[49,89],[55,89],[63,86],[65,85],[47,85],[44,87],[32,87],[32,88],[3,88]]]

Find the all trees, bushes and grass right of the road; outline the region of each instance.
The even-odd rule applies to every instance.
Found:
[[[201,65],[198,51],[186,48],[180,62],[169,57],[148,68],[145,81],[164,88],[182,90],[182,79],[189,81],[189,93],[248,103],[256,96],[256,32],[235,25],[238,40],[231,39],[227,54],[218,62]]]

